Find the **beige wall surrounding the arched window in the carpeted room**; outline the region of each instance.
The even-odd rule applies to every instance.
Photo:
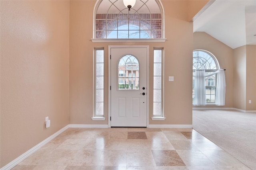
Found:
[[[194,33],[194,50],[203,49],[211,52],[220,64],[221,69],[226,69],[226,98],[225,106],[202,106],[202,107],[233,107],[233,49],[218,41],[205,32]],[[200,107],[200,106],[193,106]]]

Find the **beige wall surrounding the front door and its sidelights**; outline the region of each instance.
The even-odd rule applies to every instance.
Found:
[[[108,45],[149,45],[149,117],[152,117],[153,48],[164,48],[164,121],[150,124],[192,124],[193,23],[188,22],[187,1],[162,1],[165,9],[164,43],[92,43],[93,9],[96,0],[70,1],[70,124],[108,124],[92,121],[93,49],[104,47],[104,88],[108,89]],[[174,82],[168,82],[174,76]],[[108,90],[104,92],[108,117]],[[185,104],[185,105],[184,105]]]

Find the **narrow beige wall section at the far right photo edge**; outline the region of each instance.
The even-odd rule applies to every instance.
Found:
[[[246,111],[256,110],[256,45],[246,45]],[[249,104],[251,100],[251,104]]]

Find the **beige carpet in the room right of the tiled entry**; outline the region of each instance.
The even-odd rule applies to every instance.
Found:
[[[256,113],[193,110],[193,127],[240,162],[256,170]]]

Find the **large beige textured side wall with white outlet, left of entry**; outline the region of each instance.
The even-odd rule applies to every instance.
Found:
[[[1,1],[0,167],[69,123],[68,19],[68,1]]]

